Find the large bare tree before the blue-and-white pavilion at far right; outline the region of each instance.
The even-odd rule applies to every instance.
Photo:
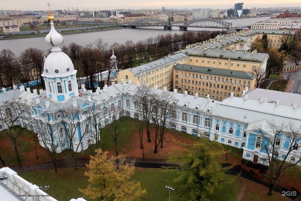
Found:
[[[257,155],[259,155],[259,160],[269,166],[268,195],[272,196],[272,191],[281,174],[301,162],[300,152],[296,151],[301,147],[301,125],[269,120],[260,122],[260,126],[255,127],[254,131],[261,138],[260,152],[266,153]],[[285,142],[283,146],[280,146],[282,139]]]

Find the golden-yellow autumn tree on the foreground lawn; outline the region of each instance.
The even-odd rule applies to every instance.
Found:
[[[88,176],[88,187],[79,189],[85,196],[97,200],[139,200],[146,194],[140,182],[129,181],[134,174],[134,161],[128,163],[122,155],[108,159],[108,152],[95,150],[96,155],[91,156],[85,172]]]

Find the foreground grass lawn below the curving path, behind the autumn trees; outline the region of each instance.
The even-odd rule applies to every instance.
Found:
[[[72,168],[60,168],[57,173],[53,170],[42,170],[19,175],[38,186],[49,185],[50,188],[46,193],[58,195],[55,198],[60,201],[67,201],[71,198],[85,198],[78,188],[83,189],[88,185],[88,178],[83,175],[86,170],[87,168],[85,167],[79,168],[78,171]],[[176,171],[166,171],[157,168],[136,168],[131,180],[139,181],[141,187],[147,190],[147,194],[142,196],[141,200],[168,200],[169,190],[165,188],[166,185],[175,188],[175,191],[171,191],[170,198],[171,200],[177,200],[177,187],[172,185],[172,180],[176,177]],[[228,177],[232,178],[232,182],[216,189],[215,193],[208,197],[211,201],[232,201],[237,198],[241,191],[243,192],[241,195],[243,200],[289,200],[276,192],[273,197],[268,197],[266,194],[268,192],[267,187],[247,179],[231,175],[228,175]]]

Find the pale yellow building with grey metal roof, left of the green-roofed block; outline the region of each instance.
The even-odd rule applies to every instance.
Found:
[[[128,68],[117,72],[118,83],[121,80],[129,82],[131,79],[133,84],[148,84],[152,88],[157,86],[158,89],[172,89],[173,67],[176,64],[187,64],[188,56],[184,52],[178,52],[164,58],[151,61],[147,64],[141,64],[135,68]]]

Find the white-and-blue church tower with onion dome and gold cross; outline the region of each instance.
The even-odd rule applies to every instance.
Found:
[[[48,6],[50,6],[48,4]],[[48,20],[51,30],[45,37],[46,43],[52,47],[51,53],[44,62],[44,77],[47,97],[54,101],[63,102],[70,96],[78,96],[78,86],[76,82],[76,70],[71,59],[62,52],[60,46],[64,42],[64,37],[57,33],[54,28],[54,17],[49,8]]]

